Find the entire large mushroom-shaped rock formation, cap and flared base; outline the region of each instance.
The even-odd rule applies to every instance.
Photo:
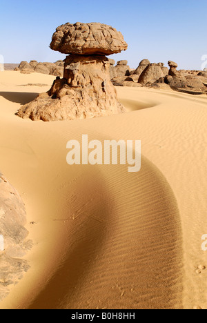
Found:
[[[70,54],[63,79],[23,106],[17,115],[43,121],[85,119],[124,112],[110,81],[111,55],[128,47],[121,32],[101,23],[66,23],[52,36],[50,48]]]

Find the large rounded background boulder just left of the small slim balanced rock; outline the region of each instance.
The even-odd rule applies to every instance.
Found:
[[[141,73],[139,77],[139,83],[146,85],[148,83],[154,83],[160,77],[164,77],[161,67],[156,63],[152,63]]]

